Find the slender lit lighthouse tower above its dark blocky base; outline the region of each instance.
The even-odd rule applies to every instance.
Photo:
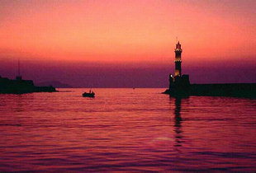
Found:
[[[182,49],[182,45],[179,43],[176,44],[176,48],[174,49],[175,52],[175,73],[174,73],[174,77],[181,77],[182,76],[182,53],[183,53],[183,49]]]

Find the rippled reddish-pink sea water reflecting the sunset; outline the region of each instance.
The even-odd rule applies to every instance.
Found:
[[[64,90],[0,95],[0,171],[256,171],[256,100]]]

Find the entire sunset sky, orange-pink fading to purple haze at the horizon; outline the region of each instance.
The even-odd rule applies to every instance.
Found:
[[[20,58],[35,82],[168,86],[178,36],[192,83],[256,82],[255,9],[254,0],[0,0],[0,75],[15,77]]]

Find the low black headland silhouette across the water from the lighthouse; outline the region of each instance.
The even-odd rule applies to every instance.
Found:
[[[23,80],[21,76],[17,76],[12,80],[7,77],[0,76],[0,93],[2,94],[25,94],[31,92],[55,92],[53,86],[35,86],[31,80]]]

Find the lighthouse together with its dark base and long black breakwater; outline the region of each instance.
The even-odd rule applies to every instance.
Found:
[[[175,72],[169,75],[169,87],[163,94],[170,96],[236,96],[256,98],[256,83],[191,84],[189,75],[182,74],[182,46],[176,44]]]

